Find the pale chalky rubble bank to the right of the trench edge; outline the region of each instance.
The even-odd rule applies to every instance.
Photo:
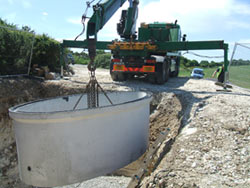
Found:
[[[180,89],[184,128],[142,187],[249,187],[250,93],[216,92],[206,80]]]

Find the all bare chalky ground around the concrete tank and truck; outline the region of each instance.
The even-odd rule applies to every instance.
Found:
[[[68,80],[43,83],[47,89],[56,87],[60,92],[64,91],[51,91],[46,97],[83,92],[88,72],[84,66],[75,65],[74,69],[76,75]],[[174,139],[169,152],[160,151],[164,155],[159,165],[140,186],[250,187],[249,90],[234,86],[232,92],[218,92],[216,90],[222,88],[214,81],[189,78],[171,78],[164,85],[152,85],[142,79],[113,82],[109,71],[103,69],[98,69],[96,76],[106,91],[152,92],[150,145],[166,129],[169,130],[166,140]],[[5,104],[2,99],[3,95],[0,95],[1,107]],[[9,122],[5,123],[5,120],[0,121],[0,143],[4,143],[0,148],[0,167],[5,169],[0,171],[0,187],[28,187],[18,180],[15,142]],[[140,168],[142,160],[113,175],[131,177]],[[126,187],[130,180],[109,176],[66,187]]]

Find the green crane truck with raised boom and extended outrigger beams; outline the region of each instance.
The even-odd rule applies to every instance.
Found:
[[[93,72],[96,49],[111,50],[110,75],[114,81],[143,76],[153,84],[164,84],[169,77],[178,76],[181,51],[221,49],[224,50],[224,64],[227,71],[228,44],[222,40],[186,41],[186,35],[182,36],[177,20],[174,23],[141,23],[137,36],[138,0],[128,0],[129,8],[121,13],[117,24],[120,40],[98,41],[98,31],[125,2],[126,0],[106,0],[94,5],[93,15],[87,23],[86,39],[64,40],[61,44],[61,56],[65,47],[87,48],[90,57],[88,68]],[[90,4],[87,4],[87,7],[90,7]],[[82,16],[84,29],[86,18],[88,17],[84,14]],[[62,61],[61,63],[63,64]]]

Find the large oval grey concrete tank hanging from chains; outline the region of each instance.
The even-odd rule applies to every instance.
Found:
[[[147,149],[149,102],[145,92],[100,94],[100,108],[87,96],[57,97],[9,109],[20,178],[28,185],[68,185],[111,173]]]

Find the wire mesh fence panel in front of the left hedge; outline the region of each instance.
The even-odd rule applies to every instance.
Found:
[[[0,25],[0,77],[29,75],[35,33]]]

